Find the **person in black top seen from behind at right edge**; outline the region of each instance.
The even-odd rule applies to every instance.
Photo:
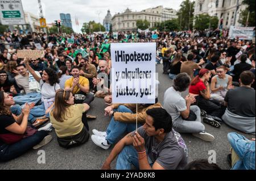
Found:
[[[255,90],[251,88],[254,78],[251,71],[243,71],[239,79],[241,87],[226,93],[224,100],[228,108],[222,120],[241,132],[255,134]]]

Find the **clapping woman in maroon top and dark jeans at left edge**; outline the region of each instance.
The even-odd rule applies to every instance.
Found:
[[[13,97],[0,91],[0,161],[6,162],[19,157],[30,149],[39,149],[48,144],[52,137],[48,131],[36,131],[28,127],[28,115],[34,105],[25,104],[18,116],[11,114]]]

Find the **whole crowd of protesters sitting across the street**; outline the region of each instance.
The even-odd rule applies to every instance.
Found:
[[[188,165],[189,149],[180,133],[210,142],[215,138],[204,123],[214,128],[225,123],[255,134],[255,44],[230,40],[219,30],[154,32],[158,39],[151,39],[152,33],[119,32],[117,39],[112,33],[3,33],[0,161],[48,144],[52,129],[64,148],[84,144],[89,139],[86,112],[97,97],[109,104],[104,111],[112,119],[106,131],[92,130],[92,141],[103,149],[116,144],[102,169],[110,169],[117,156],[117,169],[220,169],[205,160]],[[154,104],[139,104],[136,112],[136,104],[112,104],[110,44],[146,42],[156,42],[156,64],[163,64],[173,86],[163,104],[156,98]],[[41,58],[17,56],[18,49],[38,45]],[[228,139],[232,169],[255,169],[255,140],[238,133],[229,133]]]

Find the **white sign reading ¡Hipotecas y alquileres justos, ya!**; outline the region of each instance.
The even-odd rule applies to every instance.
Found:
[[[155,103],[156,43],[114,43],[112,55],[112,102]]]

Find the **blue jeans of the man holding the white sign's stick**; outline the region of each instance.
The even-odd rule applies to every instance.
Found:
[[[117,158],[117,170],[131,170],[131,165],[139,170],[138,153],[132,145],[125,146]]]

